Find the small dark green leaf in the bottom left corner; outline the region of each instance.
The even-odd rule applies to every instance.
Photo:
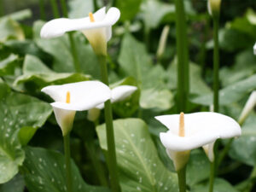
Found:
[[[0,185],[1,192],[23,192],[25,188],[25,182],[23,177],[18,174],[8,183]]]

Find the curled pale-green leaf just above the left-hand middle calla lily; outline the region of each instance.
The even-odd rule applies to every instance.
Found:
[[[26,55],[23,65],[23,75],[15,80],[15,85],[35,85],[38,90],[49,84],[67,84],[88,80],[89,77],[81,73],[55,73],[44,65],[37,57]]]

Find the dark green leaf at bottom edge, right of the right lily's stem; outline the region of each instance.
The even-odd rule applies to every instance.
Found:
[[[191,192],[206,192],[209,190],[208,184],[201,184],[192,187]],[[222,178],[215,178],[214,180],[214,191],[218,192],[238,192],[230,183]]]

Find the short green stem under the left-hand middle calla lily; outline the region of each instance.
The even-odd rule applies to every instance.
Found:
[[[70,138],[69,138],[69,133],[66,136],[64,136],[63,139],[64,139],[65,163],[66,163],[67,192],[73,192],[73,190],[72,190],[71,163],[70,163]]]

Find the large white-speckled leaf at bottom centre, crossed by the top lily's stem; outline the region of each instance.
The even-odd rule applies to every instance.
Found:
[[[113,127],[122,191],[177,191],[177,175],[160,161],[143,120],[118,119]],[[101,147],[107,150],[105,125],[96,131]]]

